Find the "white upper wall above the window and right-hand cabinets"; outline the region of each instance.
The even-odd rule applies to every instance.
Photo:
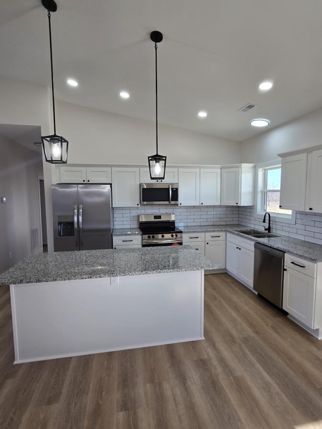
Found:
[[[322,144],[322,109],[241,143],[241,162],[265,162],[276,154]]]

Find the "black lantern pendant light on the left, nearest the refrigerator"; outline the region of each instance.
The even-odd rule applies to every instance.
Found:
[[[48,12],[49,23],[49,44],[50,44],[50,66],[51,66],[51,89],[52,89],[52,111],[54,119],[54,134],[50,136],[42,136],[42,147],[47,162],[51,164],[65,164],[67,162],[68,141],[56,134],[56,117],[55,117],[55,97],[54,97],[54,75],[52,67],[52,46],[51,46],[51,26],[50,26],[50,12],[56,12],[57,5],[54,0],[42,0],[43,7]]]

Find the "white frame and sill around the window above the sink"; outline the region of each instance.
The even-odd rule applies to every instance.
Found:
[[[264,217],[265,211],[263,210],[264,207],[264,192],[272,191],[275,192],[276,190],[269,190],[264,189],[264,174],[267,169],[271,169],[274,167],[280,167],[281,166],[281,160],[275,159],[273,161],[267,161],[262,162],[260,164],[257,164],[256,166],[256,175],[255,175],[255,217],[256,218],[262,218]],[[291,223],[295,224],[296,219],[296,211],[292,210],[291,215],[282,214],[282,213],[273,213],[270,212],[271,219],[276,222],[282,222],[282,223]]]

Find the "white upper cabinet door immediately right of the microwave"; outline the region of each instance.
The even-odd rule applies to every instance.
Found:
[[[179,204],[182,206],[199,206],[199,196],[200,169],[179,168]]]

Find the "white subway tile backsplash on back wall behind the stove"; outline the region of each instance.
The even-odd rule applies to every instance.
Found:
[[[118,207],[114,209],[115,228],[137,228],[141,213],[175,213],[176,226],[219,225],[238,223],[238,207],[151,205],[144,207]]]

